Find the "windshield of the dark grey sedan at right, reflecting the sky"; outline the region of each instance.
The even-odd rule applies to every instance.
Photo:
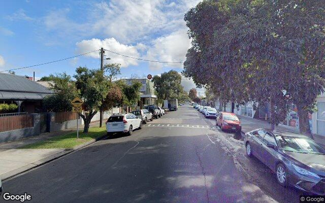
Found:
[[[325,154],[325,150],[309,138],[276,136],[276,140],[284,151]]]

